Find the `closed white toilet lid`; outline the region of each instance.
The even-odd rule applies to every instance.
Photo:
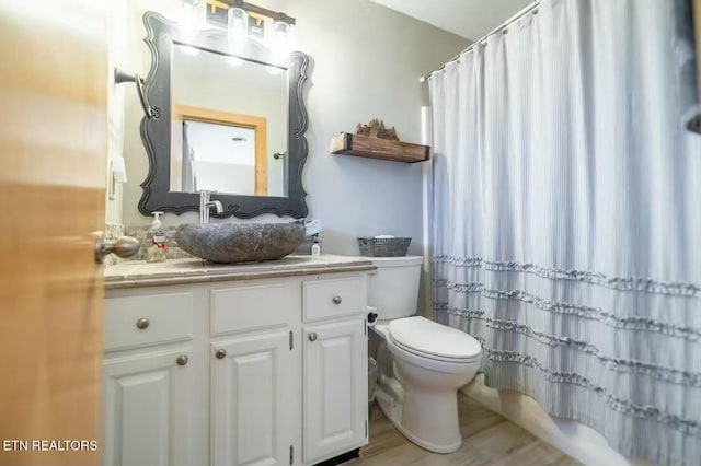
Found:
[[[480,342],[464,331],[415,316],[390,322],[390,337],[412,352],[441,360],[473,360],[481,356]]]

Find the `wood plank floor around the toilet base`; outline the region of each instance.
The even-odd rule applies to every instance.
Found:
[[[458,394],[462,446],[456,453],[427,452],[406,440],[372,405],[370,443],[346,466],[574,466],[577,461],[514,422]]]

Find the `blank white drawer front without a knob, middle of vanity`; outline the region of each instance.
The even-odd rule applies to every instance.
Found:
[[[211,335],[249,331],[299,322],[299,283],[211,290]],[[295,299],[297,296],[297,299]]]

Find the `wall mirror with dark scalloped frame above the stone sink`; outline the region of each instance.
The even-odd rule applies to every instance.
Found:
[[[198,191],[214,190],[225,208],[214,217],[306,217],[308,57],[271,65],[255,44],[248,56],[228,53],[226,31],[186,43],[159,13],[143,23],[152,57],[145,94],[159,116],[141,121],[150,170],[139,211],[197,211]]]

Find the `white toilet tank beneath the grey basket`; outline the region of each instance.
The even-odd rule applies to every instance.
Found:
[[[416,313],[418,280],[423,257],[365,257],[377,267],[368,278],[368,305],[377,307],[378,318],[406,317]]]

